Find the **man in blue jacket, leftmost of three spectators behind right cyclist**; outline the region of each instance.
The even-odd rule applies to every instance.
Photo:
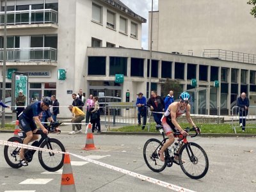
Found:
[[[141,116],[143,118],[142,130],[145,129],[147,122],[147,100],[143,93],[137,94],[136,106],[138,107],[138,125],[141,125]]]

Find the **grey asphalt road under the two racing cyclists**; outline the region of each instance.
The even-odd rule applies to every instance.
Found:
[[[8,140],[12,136],[12,133],[1,133],[0,140]],[[160,140],[160,136],[95,134],[93,141],[97,150],[89,151],[81,150],[86,143],[85,134],[61,133],[51,134],[50,137],[58,138],[70,153],[91,157],[102,163],[193,191],[255,191],[256,189],[256,138],[189,138],[189,141],[201,145],[209,157],[207,175],[200,180],[193,180],[176,164],[161,173],[152,172],[147,167],[143,159],[143,145],[152,137]],[[37,152],[29,166],[13,169],[5,162],[3,148],[0,145],[0,191],[60,191],[61,172],[45,173],[38,162]],[[172,191],[74,156],[70,156],[70,159],[77,191]],[[47,183],[43,184],[43,182]]]

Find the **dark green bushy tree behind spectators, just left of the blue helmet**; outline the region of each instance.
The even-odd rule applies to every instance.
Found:
[[[178,99],[180,92],[183,91],[183,86],[179,81],[167,78],[166,81],[163,81],[163,84],[161,84],[161,96],[166,97],[170,90],[173,90],[174,98]]]

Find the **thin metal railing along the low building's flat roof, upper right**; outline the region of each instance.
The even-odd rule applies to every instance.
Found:
[[[213,58],[218,60],[237,61],[241,63],[256,64],[256,55],[244,52],[227,51],[222,49],[204,49],[204,58]]]

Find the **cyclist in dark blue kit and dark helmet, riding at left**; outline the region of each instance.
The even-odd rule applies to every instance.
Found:
[[[51,116],[51,112],[49,110],[49,106],[52,104],[52,100],[50,97],[45,97],[42,101],[36,101],[24,109],[22,113],[19,115],[19,125],[22,131],[26,132],[26,138],[24,139],[23,143],[28,145],[29,142],[38,140],[38,134],[33,134],[37,131],[36,124],[39,125],[40,129],[45,134],[48,134],[48,130],[44,127],[39,119],[39,114],[42,111],[45,111],[47,116],[47,120],[54,122]],[[24,157],[24,148],[20,149],[20,163],[23,166],[28,166],[28,161],[26,161]]]

